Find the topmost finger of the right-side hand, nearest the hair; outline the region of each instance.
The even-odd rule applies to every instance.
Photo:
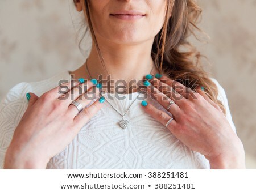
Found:
[[[163,75],[157,80],[158,81],[160,80],[160,82],[162,82],[163,84],[167,84],[168,86],[171,86],[172,88],[174,88],[175,91],[179,93],[181,96],[185,97],[185,99],[196,99],[194,94],[195,92],[193,92],[192,89],[184,86],[182,83],[177,82],[176,80],[172,80],[165,75]]]

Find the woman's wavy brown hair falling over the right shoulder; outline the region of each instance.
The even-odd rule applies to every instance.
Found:
[[[79,0],[74,0],[74,2],[76,1]],[[89,1],[84,0],[84,2],[86,17],[88,18],[85,33],[89,27],[101,63],[106,69],[90,19]],[[216,84],[209,78],[210,74],[204,71],[201,66],[200,58],[202,55],[188,41],[189,36],[196,37],[195,30],[202,32],[196,26],[201,16],[201,8],[197,5],[196,0],[166,0],[166,2],[164,24],[160,32],[155,36],[151,52],[156,68],[161,74],[165,74],[193,90],[197,86],[203,86],[204,92],[208,97],[220,106],[222,112],[226,114],[224,105],[217,99],[218,88]],[[168,17],[170,14],[171,18]],[[196,37],[196,39],[198,38]],[[184,48],[185,51],[181,51]],[[191,83],[195,82],[195,80],[197,80],[196,87],[195,84]]]

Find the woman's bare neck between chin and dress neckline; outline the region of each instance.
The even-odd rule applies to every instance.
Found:
[[[107,46],[100,47],[107,70],[105,71],[100,58],[98,57],[96,46],[93,44],[92,50],[87,59],[89,74],[93,79],[99,79],[100,75],[102,75],[102,79],[111,79],[113,81],[113,88],[115,88],[115,83],[118,80],[125,80],[128,86],[126,87],[126,93],[135,92],[136,87],[129,90],[131,83],[135,85],[139,80],[144,79],[144,76],[149,74],[154,66],[154,61],[151,58],[151,48],[152,42],[126,46],[118,46],[117,44],[113,45],[108,43]],[[155,74],[156,72],[158,72],[158,70],[154,66],[151,74]],[[90,76],[85,74],[85,63],[79,69],[71,73],[75,75],[75,78],[90,79]],[[80,76],[76,77],[76,75]],[[108,75],[110,75],[109,78]],[[121,83],[119,85],[123,84]],[[114,91],[114,89],[111,90]]]

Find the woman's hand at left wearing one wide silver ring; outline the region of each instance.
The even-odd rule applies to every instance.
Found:
[[[66,94],[60,92],[64,87]],[[28,108],[6,151],[4,168],[45,169],[49,159],[63,151],[81,127],[102,108],[104,98],[96,100],[81,113],[76,106],[70,105],[72,101],[79,101],[84,108],[99,93],[90,80],[84,83],[72,80],[40,97],[30,93]]]

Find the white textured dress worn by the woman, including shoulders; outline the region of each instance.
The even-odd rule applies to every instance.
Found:
[[[16,84],[0,103],[0,168],[15,127],[27,109],[27,92],[39,97],[54,87],[59,80],[70,80],[68,70],[38,82]],[[219,95],[226,108],[226,118],[236,133],[224,89],[216,79]],[[120,95],[119,95],[120,96]],[[106,98],[119,113],[126,112],[138,93],[123,100]],[[141,98],[142,94],[139,96]],[[158,109],[166,111],[157,101],[147,98]],[[129,127],[121,129],[122,117],[105,101],[103,108],[82,127],[79,134],[59,154],[52,157],[47,169],[209,169],[209,161],[190,150],[164,125],[145,113],[141,99],[135,100],[125,119]]]

